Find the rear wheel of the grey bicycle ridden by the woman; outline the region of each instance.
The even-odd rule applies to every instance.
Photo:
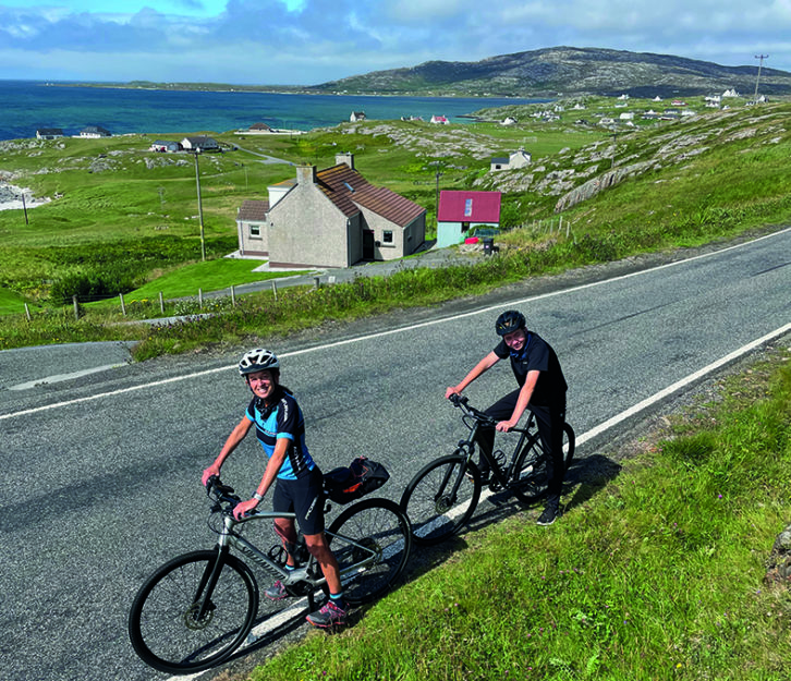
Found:
[[[377,555],[374,566],[342,577],[343,599],[352,606],[382,596],[406,567],[412,549],[410,521],[394,501],[363,499],[346,508],[329,532],[327,538],[341,573],[367,555],[367,551],[345,544],[341,537],[349,537]]]

